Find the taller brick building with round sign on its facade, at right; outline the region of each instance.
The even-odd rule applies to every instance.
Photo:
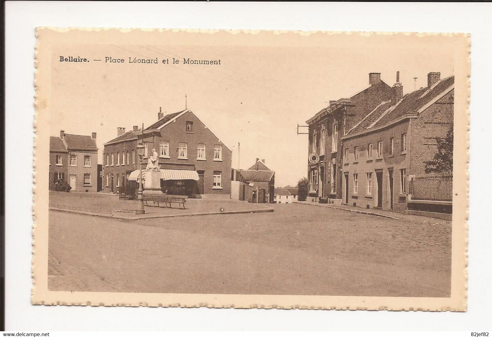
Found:
[[[341,136],[390,95],[391,87],[381,80],[381,74],[369,73],[369,87],[349,98],[330,101],[328,107],[306,121],[309,127],[308,201],[323,197],[341,203]]]

